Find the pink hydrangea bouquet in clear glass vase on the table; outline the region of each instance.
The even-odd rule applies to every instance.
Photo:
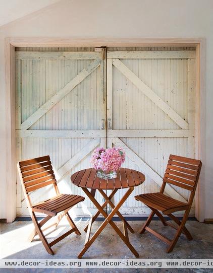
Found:
[[[121,148],[97,148],[91,157],[91,164],[97,170],[97,176],[104,179],[116,177],[116,171],[125,161],[125,152]]]

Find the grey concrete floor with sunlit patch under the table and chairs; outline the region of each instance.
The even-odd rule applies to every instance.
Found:
[[[213,258],[213,225],[198,223],[196,221],[188,221],[186,227],[193,236],[192,241],[186,240],[181,235],[173,252],[167,254],[165,252],[166,245],[155,238],[152,234],[145,232],[138,234],[142,221],[129,222],[135,233],[129,233],[130,242],[139,252],[140,258]],[[92,233],[101,222],[95,222],[92,227]],[[122,228],[121,222],[116,224]],[[27,242],[28,234],[32,230],[32,222],[18,222],[11,224],[1,224],[1,257],[2,258],[77,258],[84,245],[85,232],[83,228],[85,221],[76,222],[77,227],[82,235],[77,236],[72,233],[52,249],[54,256],[49,255],[39,240]],[[160,221],[153,221],[150,225],[154,230],[172,238],[175,230],[170,227],[163,227]],[[48,233],[47,238],[53,238],[66,232],[69,226],[66,219],[61,221],[59,227],[52,233]],[[168,233],[169,231],[169,233]],[[107,226],[89,250],[84,254],[84,258],[135,258],[130,250],[124,245],[122,240],[114,232],[111,226]],[[145,269],[1,269],[0,272],[213,272],[212,269],[173,269],[173,268],[145,268]]]

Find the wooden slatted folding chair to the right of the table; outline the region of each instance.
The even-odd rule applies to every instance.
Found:
[[[167,169],[163,178],[161,191],[135,196],[136,200],[143,202],[152,210],[140,233],[142,234],[145,232],[145,230],[147,230],[148,232],[155,235],[158,239],[161,239],[167,243],[169,245],[166,251],[167,253],[173,250],[181,233],[183,233],[188,240],[192,240],[192,236],[185,227],[185,224],[192,206],[201,166],[202,163],[200,160],[170,155]],[[164,190],[167,183],[191,191],[188,202],[181,202],[165,195]],[[159,213],[159,211],[161,211],[164,215],[169,216],[177,225],[173,225],[170,222],[167,222],[163,215]],[[179,211],[185,211],[181,222],[176,216],[172,214]],[[171,226],[177,230],[172,241],[148,227],[155,214],[159,217],[164,226]]]

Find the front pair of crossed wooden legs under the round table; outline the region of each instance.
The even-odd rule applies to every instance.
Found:
[[[124,194],[124,196],[121,198],[119,203],[116,205],[116,207],[113,209],[113,211],[108,215],[105,213],[103,208],[100,206],[100,204],[96,201],[96,199],[91,195],[91,193],[86,188],[82,188],[82,190],[87,194],[87,196],[90,198],[90,200],[94,203],[95,207],[100,211],[100,213],[105,217],[104,222],[101,224],[101,226],[97,229],[97,231],[93,234],[91,239],[85,244],[82,251],[79,253],[78,258],[81,258],[84,253],[87,251],[87,249],[92,245],[92,243],[95,241],[95,239],[98,237],[98,235],[102,232],[102,230],[107,226],[109,223],[113,229],[117,232],[117,234],[120,236],[120,238],[123,240],[123,242],[128,246],[128,248],[132,251],[132,253],[139,257],[138,252],[135,250],[135,248],[130,244],[130,242],[127,240],[125,235],[120,231],[120,229],[116,226],[116,224],[112,221],[113,216],[117,213],[117,211],[120,209],[122,204],[125,202],[125,200],[128,198],[128,196],[131,194],[131,192],[134,190],[134,187],[130,187],[127,192]]]

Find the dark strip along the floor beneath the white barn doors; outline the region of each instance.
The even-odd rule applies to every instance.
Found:
[[[42,220],[44,217],[37,217],[37,220]],[[126,221],[145,221],[147,219],[147,216],[124,216]],[[167,221],[171,220],[168,216],[164,217]],[[179,220],[182,220],[182,216],[177,216]],[[90,217],[76,217],[75,221],[88,221]],[[97,217],[96,221],[103,222],[105,218],[103,217]],[[153,217],[154,221],[159,221],[158,217]],[[32,221],[31,217],[16,217],[15,221]],[[113,217],[113,221],[119,222],[121,219],[119,217]],[[189,216],[188,221],[197,221],[197,219],[194,216]]]

